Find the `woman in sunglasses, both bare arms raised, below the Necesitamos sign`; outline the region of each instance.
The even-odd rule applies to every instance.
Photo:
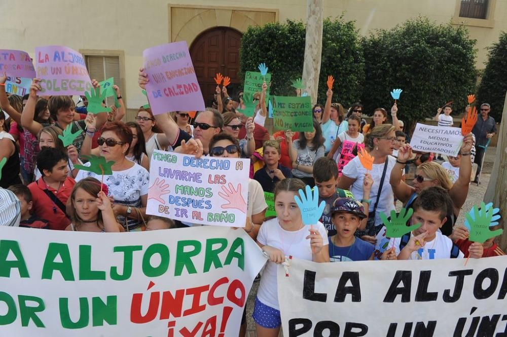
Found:
[[[410,207],[421,190],[429,186],[441,186],[449,192],[453,202],[453,213],[449,214],[447,221],[442,226],[441,231],[444,235],[451,235],[454,226],[454,220],[458,217],[461,206],[465,203],[468,195],[468,186],[470,184],[470,175],[472,174],[472,161],[470,160],[470,150],[472,149],[472,134],[463,138],[461,144],[461,163],[459,165],[459,176],[456,182],[452,183],[446,170],[437,163],[427,162],[421,164],[414,175],[413,186],[409,186],[402,181],[402,169],[406,162],[412,157],[412,148],[405,144],[398,150],[396,166],[392,170],[389,182],[392,191],[398,200],[406,208]]]

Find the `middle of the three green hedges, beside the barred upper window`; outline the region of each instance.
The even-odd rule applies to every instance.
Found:
[[[464,27],[437,25],[422,17],[372,33],[363,39],[364,110],[372,114],[380,106],[389,111],[390,91],[401,88],[399,118],[409,128],[451,100],[460,113],[467,94],[474,92],[475,43]]]

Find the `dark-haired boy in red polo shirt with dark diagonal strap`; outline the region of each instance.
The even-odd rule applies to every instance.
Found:
[[[63,231],[70,224],[65,204],[76,181],[67,176],[67,163],[68,157],[60,149],[43,148],[37,155],[37,168],[42,177],[28,185],[33,214],[48,220],[52,230]]]

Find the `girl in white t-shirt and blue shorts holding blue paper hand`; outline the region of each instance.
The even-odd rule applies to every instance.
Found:
[[[276,217],[263,223],[257,237],[257,244],[269,256],[252,315],[259,337],[278,336],[280,330],[276,265],[284,263],[288,256],[329,262],[329,250],[325,247],[328,240],[323,240],[327,237],[323,224],[315,221],[313,226],[305,226],[294,199],[304,188],[303,181],[296,178],[278,182],[274,191]]]

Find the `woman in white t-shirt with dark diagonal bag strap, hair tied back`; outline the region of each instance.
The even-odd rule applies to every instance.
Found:
[[[394,210],[394,197],[389,185],[389,176],[396,164],[396,160],[391,156],[396,140],[394,129],[391,124],[381,124],[365,135],[366,150],[373,157],[371,171],[367,171],[357,156],[345,165],[338,180],[338,188],[350,190],[355,199],[367,204],[365,207],[369,207],[369,216],[364,220],[366,224],[361,222],[361,230],[358,229],[355,236],[372,244],[377,241],[375,236],[382,224],[380,213],[389,214]],[[363,195],[366,173],[370,173],[374,181],[369,196]]]

